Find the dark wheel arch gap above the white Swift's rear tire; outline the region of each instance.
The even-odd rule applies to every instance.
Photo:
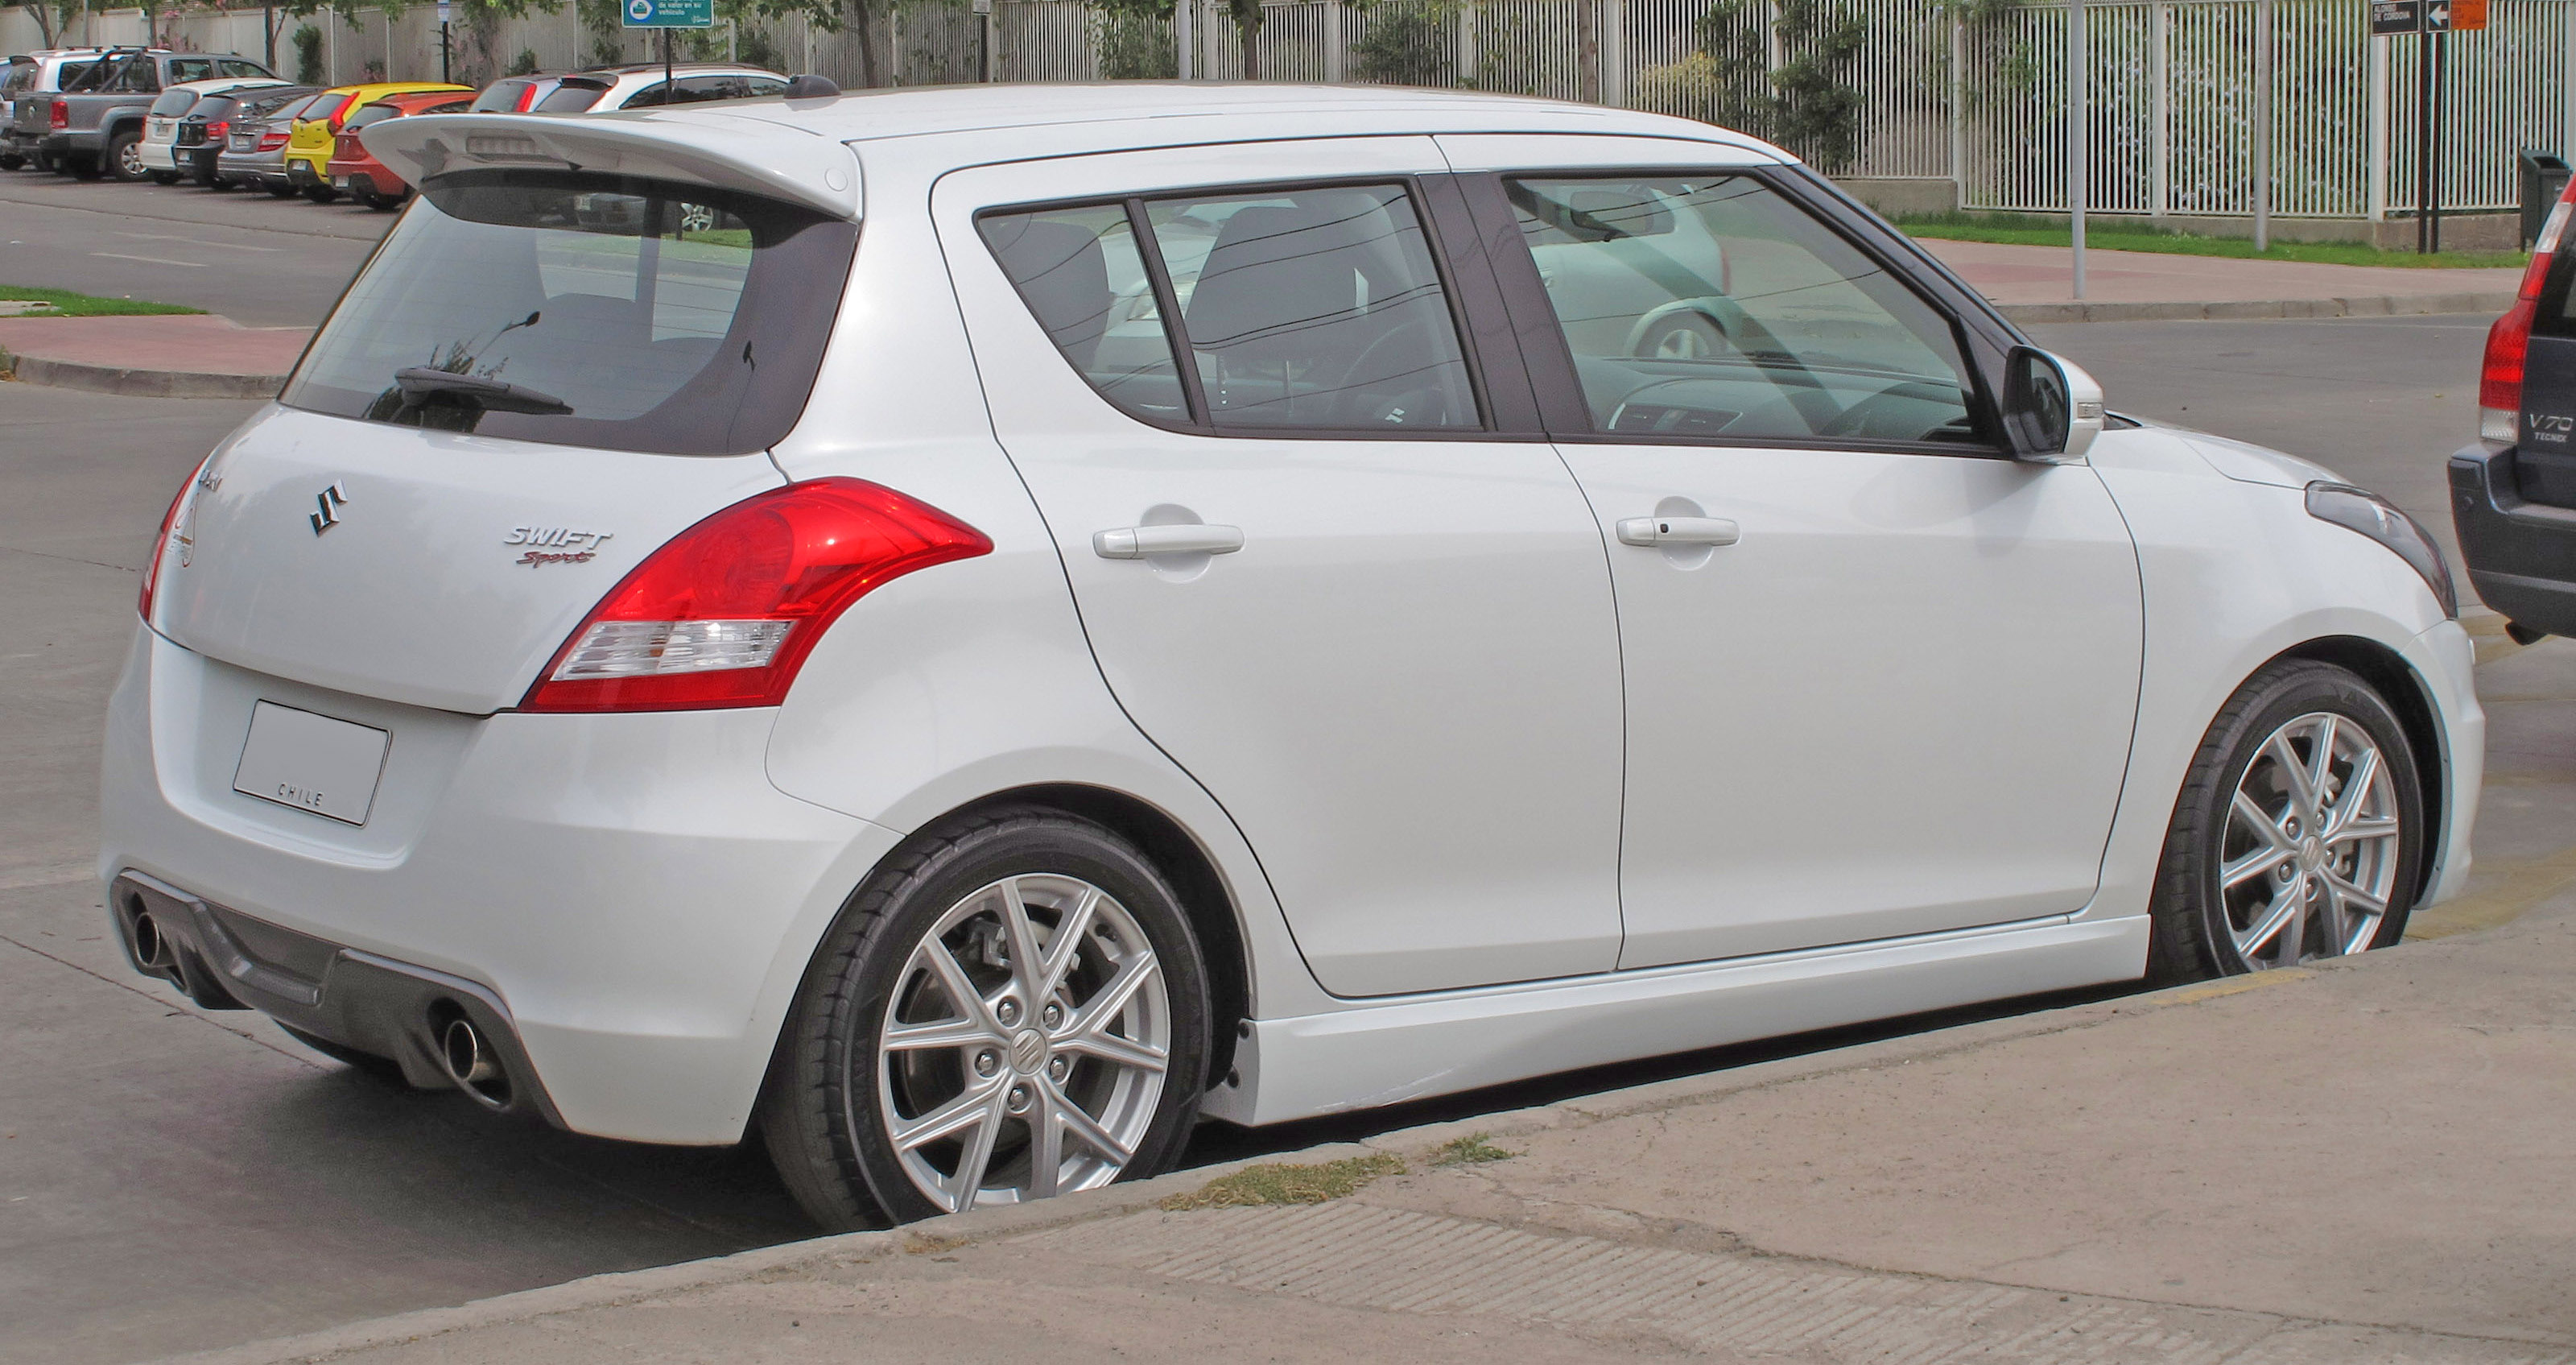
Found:
[[[1100,824],[1133,842],[1172,878],[1172,891],[1180,894],[1180,909],[1190,917],[1190,932],[1198,935],[1198,953],[1208,968],[1208,1084],[1224,1084],[1226,1074],[1234,1071],[1234,1043],[1242,1038],[1244,1020],[1252,1017],[1252,958],[1244,945],[1242,907],[1234,904],[1234,891],[1226,889],[1208,850],[1162,806],[1087,783],[994,791],[925,822],[922,829],[938,829],[994,806],[1046,806]]]

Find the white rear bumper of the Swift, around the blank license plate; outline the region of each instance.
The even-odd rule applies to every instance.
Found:
[[[255,701],[392,731],[363,827],[232,791]],[[209,981],[296,1028],[410,1071],[435,1056],[435,999],[482,1002],[479,1028],[515,1038],[562,1125],[729,1144],[814,943],[896,842],[770,786],[773,719],[459,716],[237,670],[139,628],[108,706],[100,876],[118,896],[139,873],[204,901],[180,922],[245,945],[227,966],[211,932],[191,937]],[[255,968],[312,1004],[263,994]]]

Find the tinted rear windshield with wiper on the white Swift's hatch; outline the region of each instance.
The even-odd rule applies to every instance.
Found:
[[[518,440],[734,456],[796,425],[858,224],[611,175],[422,185],[281,402]]]

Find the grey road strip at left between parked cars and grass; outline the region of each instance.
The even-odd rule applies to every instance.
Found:
[[[312,327],[392,221],[348,203],[0,170],[0,286],[188,304],[245,327]]]

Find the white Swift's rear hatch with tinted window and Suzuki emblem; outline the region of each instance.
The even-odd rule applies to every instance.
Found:
[[[765,448],[855,234],[732,191],[438,178],[191,484],[155,626],[322,688],[515,706],[618,577],[783,482]]]

